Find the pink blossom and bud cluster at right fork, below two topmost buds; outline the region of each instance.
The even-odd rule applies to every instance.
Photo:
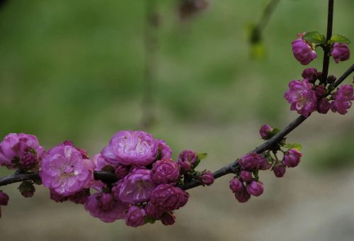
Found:
[[[343,84],[331,93],[336,77],[321,79],[322,73],[314,68],[304,69],[302,77],[304,79],[301,81],[292,80],[285,92],[284,97],[291,104],[290,110],[297,111],[304,117],[314,111],[325,114],[330,109],[342,115],[348,112],[354,100],[353,85]]]

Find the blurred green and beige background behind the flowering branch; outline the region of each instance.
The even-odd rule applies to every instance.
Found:
[[[31,133],[46,148],[73,140],[93,155],[116,131],[142,128],[147,1],[6,1],[1,138]],[[250,56],[248,29],[268,1],[210,0],[184,21],[178,2],[156,1],[158,44],[149,59],[154,122],[144,130],[166,140],[174,157],[184,149],[207,152],[200,169],[216,170],[260,145],[263,123],[283,128],[297,116],[282,97],[303,69],[290,43],[304,30],[325,33],[327,1],[281,0],[257,58]],[[335,2],[333,33],[354,39],[353,10],[352,0]],[[309,66],[321,69],[318,53]],[[351,62],[331,60],[330,74]],[[103,223],[74,203],[51,201],[42,186],[28,199],[17,184],[4,186],[11,199],[1,208],[1,240],[353,240],[353,120],[353,110],[314,113],[288,136],[304,147],[301,164],[282,179],[262,172],[263,196],[238,203],[229,190],[232,176],[224,176],[191,189],[169,227]]]

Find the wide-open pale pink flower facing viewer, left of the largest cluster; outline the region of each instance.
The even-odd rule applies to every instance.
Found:
[[[89,188],[95,164],[83,159],[81,152],[70,145],[50,149],[42,159],[40,177],[43,186],[62,196]]]

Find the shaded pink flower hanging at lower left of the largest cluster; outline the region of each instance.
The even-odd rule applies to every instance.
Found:
[[[84,208],[93,217],[106,223],[112,223],[115,220],[125,218],[127,206],[115,200],[112,194],[96,193],[87,198]]]

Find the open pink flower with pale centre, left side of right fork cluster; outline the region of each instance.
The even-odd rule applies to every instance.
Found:
[[[308,79],[302,81],[293,80],[289,83],[289,89],[285,92],[285,99],[291,103],[290,110],[297,111],[307,117],[316,110],[316,93],[312,90],[312,84]]]

